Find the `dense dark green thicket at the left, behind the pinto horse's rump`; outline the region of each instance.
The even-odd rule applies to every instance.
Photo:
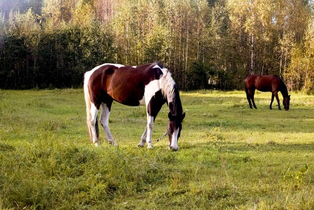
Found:
[[[23,23],[36,21],[32,12],[15,13],[9,31],[2,36],[0,75],[2,88],[55,88],[79,86],[83,74],[93,66],[112,60],[113,38],[96,23],[85,26],[72,24],[57,30],[33,31]],[[19,18],[17,18],[19,17]],[[23,29],[24,28],[24,29]],[[24,33],[24,31],[30,34]]]

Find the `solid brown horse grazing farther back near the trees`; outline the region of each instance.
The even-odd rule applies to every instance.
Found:
[[[274,97],[276,97],[279,110],[281,110],[279,98],[278,98],[278,91],[280,91],[283,97],[283,101],[282,101],[283,108],[286,111],[289,110],[290,95],[288,95],[287,87],[278,76],[276,75],[249,75],[245,78],[244,84],[245,84],[246,98],[249,101],[249,106],[251,109],[253,109],[251,100],[252,100],[254,108],[257,109],[254,102],[254,92],[255,92],[255,89],[257,89],[262,92],[272,92],[269,109],[271,109],[272,101],[274,100]]]

